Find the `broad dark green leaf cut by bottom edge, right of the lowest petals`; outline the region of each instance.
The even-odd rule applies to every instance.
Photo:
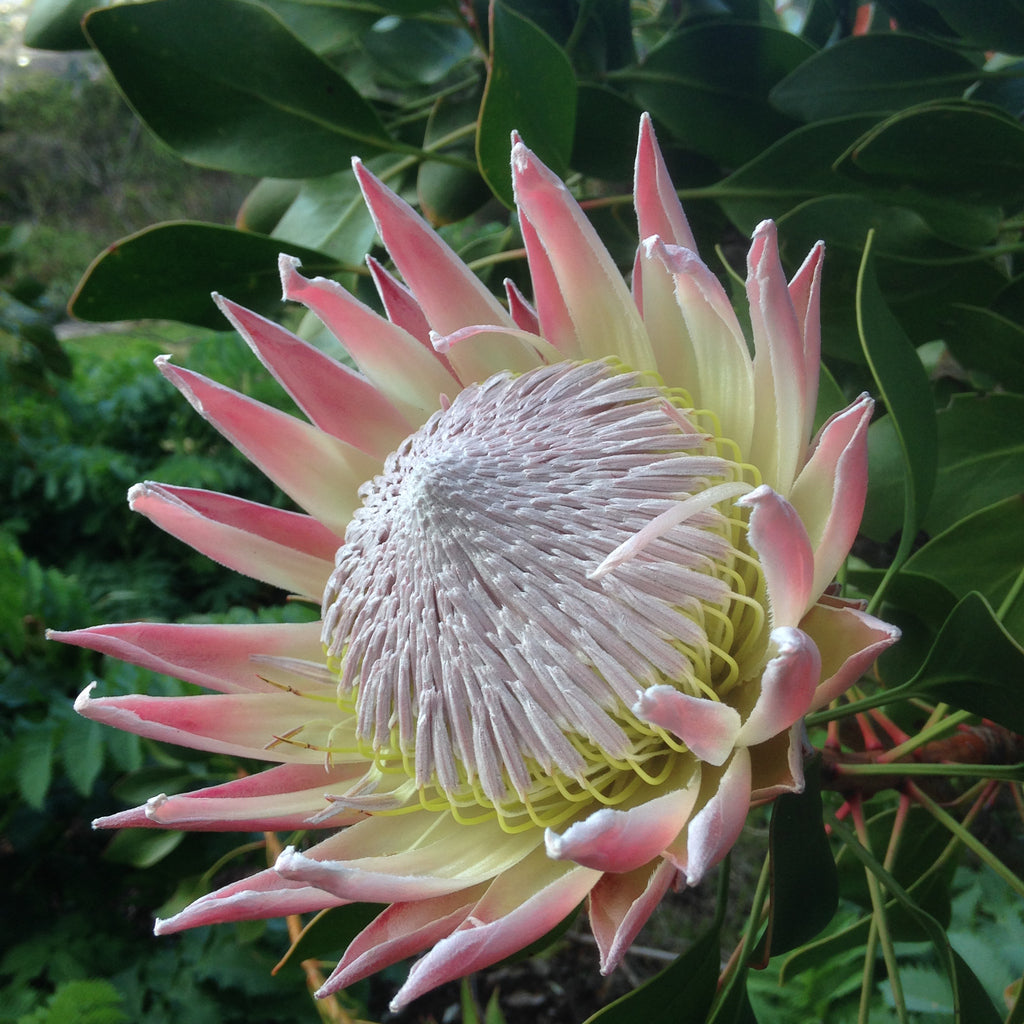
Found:
[[[650,981],[608,1004],[586,1024],[703,1024],[715,998],[720,956],[716,927]]]

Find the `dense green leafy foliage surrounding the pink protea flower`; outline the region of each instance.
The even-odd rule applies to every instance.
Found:
[[[54,197],[23,187],[24,174],[0,181],[10,218],[0,234],[0,856],[11,880],[4,920],[18,923],[0,959],[10,1008],[0,1020],[77,1019],[67,1016],[75,1007],[97,1022],[252,1021],[257,998],[266,1020],[315,1013],[297,969],[265,971],[269,950],[287,945],[280,923],[141,944],[148,913],[208,888],[210,865],[252,869],[265,854],[215,836],[89,833],[97,814],[232,766],[77,719],[69,698],[93,678],[108,693],[183,687],[46,645],[42,630],[306,613],[119,510],[125,487],[146,476],[279,500],[147,364],[171,349],[280,400],[241,346],[211,333],[222,324],[209,292],[294,317],[278,299],[273,255],[284,250],[374,301],[362,264],[374,230],[352,156],[495,285],[505,274],[526,284],[508,213],[513,128],[586,201],[624,270],[645,110],[701,251],[717,253],[709,262],[727,283],[765,217],[778,222],[791,268],[824,239],[819,412],[865,389],[880,399],[863,536],[844,582],[904,640],[853,703],[813,717],[811,738],[820,745],[833,720],[862,745],[852,715],[872,709],[914,737],[908,752],[982,718],[1024,733],[1019,0],[807,0],[777,11],[760,0],[150,0],[101,6],[80,27],[90,6],[37,0],[27,41],[91,47],[138,117],[131,124],[161,144],[138,142],[137,127],[128,147],[99,130],[124,117],[109,92],[90,100],[89,118],[54,120],[52,132],[91,161],[76,180],[105,197],[103,223],[120,218],[126,232],[84,273],[72,311],[176,326],[61,346],[52,327],[66,271],[33,260],[49,238],[52,252],[65,247],[61,267],[75,267],[82,240],[46,223]],[[97,134],[106,150],[91,147]],[[47,152],[39,142],[23,167]],[[123,187],[131,160],[145,173]],[[181,175],[197,167],[249,176],[233,227],[189,208]],[[166,216],[174,222],[143,226]],[[38,280],[41,267],[50,280]],[[296,326],[317,338],[315,325]],[[1002,993],[1024,959],[979,952],[1019,950],[1024,929],[1020,749],[1008,740],[990,763],[939,766],[952,778],[941,790],[925,771],[936,766],[901,764],[922,790],[910,816],[886,788],[862,827],[835,819],[843,797],[824,771],[776,805],[768,865],[733,894],[753,904],[749,921],[730,924],[723,880],[703,934],[601,1016],[1024,1020],[1019,987]],[[866,786],[863,767],[850,774]],[[325,922],[304,955],[336,953],[351,925]],[[679,927],[693,939],[692,923]],[[723,927],[733,941],[743,935],[745,952],[719,984]],[[767,970],[752,971],[762,962]],[[366,991],[352,998],[368,1012]]]

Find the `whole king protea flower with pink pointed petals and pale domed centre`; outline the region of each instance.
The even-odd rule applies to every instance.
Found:
[[[158,360],[303,511],[153,482],[131,507],[322,621],[57,634],[217,691],[86,690],[87,718],[276,765],[98,826],[327,831],[158,933],[384,904],[321,994],[424,953],[400,1007],[584,899],[610,971],[752,803],[801,790],[803,716],[897,635],[828,594],[871,400],[812,437],[822,247],[787,282],[773,224],[754,232],[752,357],[648,119],[632,294],[518,139],[512,172],[532,305],[356,163],[403,282],[370,261],[388,318],[281,261],[356,370],[217,298],[308,420]]]

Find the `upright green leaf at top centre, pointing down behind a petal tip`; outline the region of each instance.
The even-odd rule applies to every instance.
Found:
[[[480,106],[476,157],[484,180],[513,205],[509,137],[522,140],[556,174],[572,153],[575,76],[564,51],[501,0],[490,8],[490,71]]]

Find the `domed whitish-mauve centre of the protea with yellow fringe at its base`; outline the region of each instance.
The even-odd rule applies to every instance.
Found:
[[[756,474],[687,406],[606,361],[499,374],[364,485],[323,640],[358,742],[426,806],[515,830],[618,803],[686,753],[638,691],[722,699],[760,656]]]

